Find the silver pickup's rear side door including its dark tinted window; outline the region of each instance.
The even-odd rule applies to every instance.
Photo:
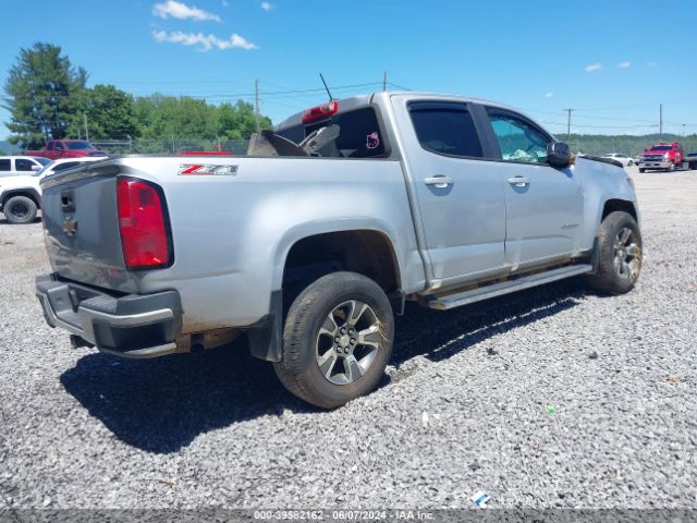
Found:
[[[405,161],[418,199],[430,277],[476,278],[500,270],[505,240],[503,183],[480,139],[474,107],[393,97]]]

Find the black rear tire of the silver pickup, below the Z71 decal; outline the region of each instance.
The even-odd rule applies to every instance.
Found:
[[[351,303],[354,303],[353,308]],[[357,304],[368,305],[369,311]],[[342,309],[342,305],[346,308]],[[356,308],[362,309],[357,321],[342,324],[344,318],[352,314],[351,311]],[[338,311],[339,315],[334,315]],[[320,333],[320,328],[328,325],[332,327],[330,315],[333,326],[339,329],[332,330],[338,335],[335,338],[328,335],[328,330]],[[350,329],[352,325],[355,329],[346,330],[345,335],[339,336],[342,328]],[[370,327],[364,329],[365,325]],[[360,329],[364,329],[362,333],[368,332],[370,336],[369,340],[368,336],[364,337],[364,341],[370,341],[369,344],[360,343]],[[354,332],[351,338],[350,332]],[[307,285],[293,301],[283,330],[283,357],[273,364],[273,368],[283,386],[293,394],[313,405],[335,409],[377,387],[390,360],[393,337],[392,307],[382,289],[365,276],[346,271],[333,272]],[[351,354],[344,356],[341,353],[342,348],[351,350]],[[363,352],[366,356],[360,355]],[[327,354],[333,357],[325,360],[325,368],[329,369],[330,377],[320,370],[320,361]],[[368,354],[374,355],[365,369],[363,366],[356,367],[348,363],[356,362],[358,365],[366,362],[366,358],[369,358]],[[350,361],[352,356],[353,360]],[[338,373],[332,375],[333,370]],[[343,374],[339,370],[343,370]],[[350,381],[350,375],[359,377]],[[346,382],[339,385],[330,379],[345,379]]]

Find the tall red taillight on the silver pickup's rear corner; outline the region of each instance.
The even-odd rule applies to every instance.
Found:
[[[120,178],[117,182],[119,231],[123,259],[129,269],[152,269],[170,265],[171,252],[162,197],[143,180]]]

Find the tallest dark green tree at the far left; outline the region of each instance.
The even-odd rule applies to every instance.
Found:
[[[21,49],[4,85],[10,142],[33,148],[65,137],[80,112],[86,82],[87,72],[73,68],[60,47],[37,42]]]

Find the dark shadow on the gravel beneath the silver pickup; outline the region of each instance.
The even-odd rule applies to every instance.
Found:
[[[583,292],[573,279],[450,312],[408,306],[381,387],[403,379],[403,363],[442,361],[493,335],[573,307]],[[171,453],[198,435],[284,410],[318,413],[279,384],[271,365],[253,358],[244,340],[203,355],[121,360],[82,357],[61,375],[65,390],[117,438],[154,453]]]

